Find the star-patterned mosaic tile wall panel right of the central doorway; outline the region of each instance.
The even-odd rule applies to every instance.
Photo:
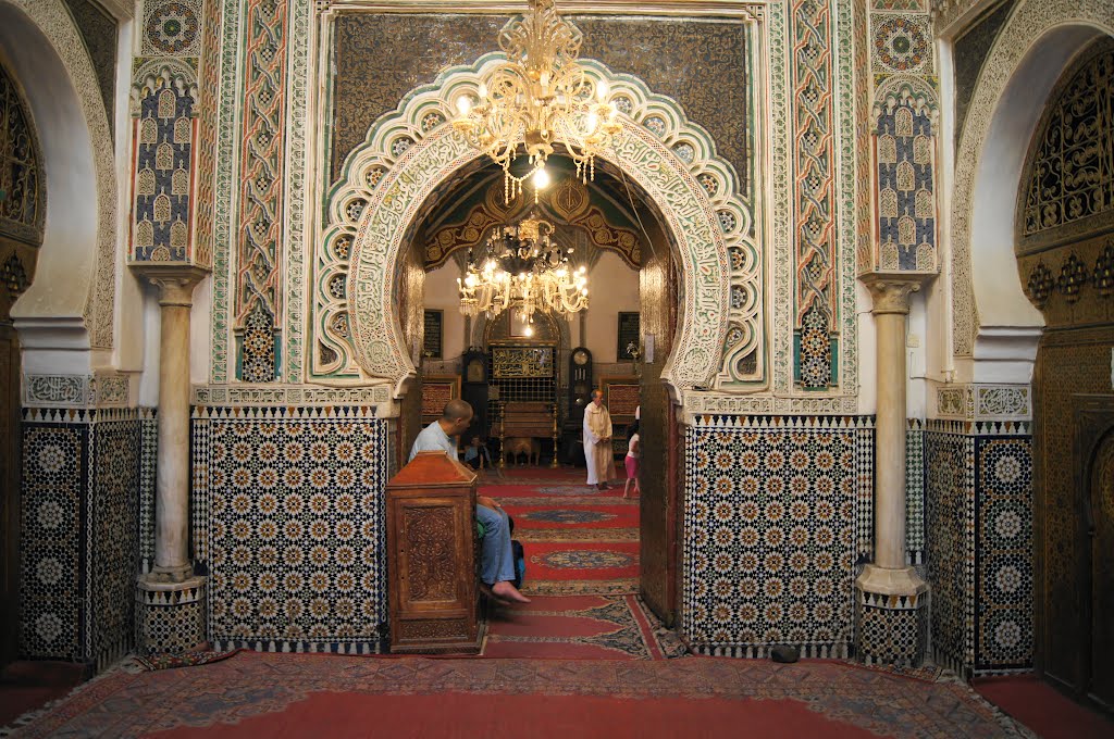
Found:
[[[697,651],[847,656],[870,423],[716,415],[688,427],[682,624]]]

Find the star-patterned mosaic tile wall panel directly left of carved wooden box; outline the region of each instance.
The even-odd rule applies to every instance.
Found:
[[[377,651],[387,621],[385,422],[370,408],[284,407],[197,408],[193,424],[209,639]]]

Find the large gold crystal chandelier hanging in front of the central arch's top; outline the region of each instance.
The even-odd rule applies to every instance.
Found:
[[[470,146],[502,167],[507,203],[532,177],[535,201],[549,176],[546,158],[554,144],[565,145],[577,176],[595,178],[595,158],[619,131],[615,108],[607,102],[607,82],[593,80],[577,62],[582,36],[565,22],[554,0],[529,0],[521,20],[499,32],[507,61],[483,75],[478,101],[457,98],[452,127]],[[521,177],[510,165],[525,151],[530,169]]]

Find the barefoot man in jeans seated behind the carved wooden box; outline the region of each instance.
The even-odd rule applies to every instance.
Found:
[[[472,421],[472,406],[465,401],[449,401],[441,417],[426,426],[410,450],[410,460],[418,452],[443,451],[457,459],[457,443],[451,439],[468,428]],[[408,460],[409,461],[409,460]],[[490,589],[496,600],[529,603],[530,599],[511,584],[515,579],[515,555],[510,549],[510,523],[498,503],[486,495],[477,497],[476,518],[483,524],[480,545],[480,580]]]

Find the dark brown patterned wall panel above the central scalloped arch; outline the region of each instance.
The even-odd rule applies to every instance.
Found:
[[[558,10],[560,4],[558,3]],[[634,75],[676,100],[707,129],[720,155],[750,189],[753,134],[747,130],[749,48],[745,22],[716,18],[567,16],[584,36],[580,56]],[[496,48],[507,16],[399,16],[342,13],[336,19],[334,120],[331,179],[363,141],[372,124],[410,90],[428,85],[437,70],[471,63]],[[421,53],[385,57],[378,50],[400,35]],[[622,39],[622,42],[618,41]],[[378,108],[368,105],[379,102]]]

